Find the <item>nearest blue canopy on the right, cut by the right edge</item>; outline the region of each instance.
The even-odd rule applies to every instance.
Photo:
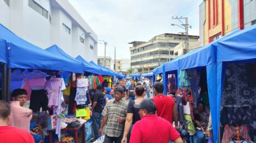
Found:
[[[217,91],[214,105],[216,107],[216,113],[212,116],[212,118],[215,118],[215,122],[212,122],[212,126],[215,128],[220,126],[222,89],[227,63],[256,63],[256,42],[254,36],[256,36],[256,25],[224,37],[214,44],[217,47]],[[218,134],[218,130],[214,132]]]

